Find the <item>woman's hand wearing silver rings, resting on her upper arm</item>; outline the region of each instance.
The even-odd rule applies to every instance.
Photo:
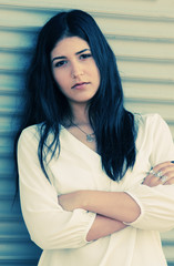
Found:
[[[174,162],[157,164],[150,171],[143,184],[147,186],[174,184]]]

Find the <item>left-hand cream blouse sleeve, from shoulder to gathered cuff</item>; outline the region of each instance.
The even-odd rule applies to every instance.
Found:
[[[42,249],[88,244],[95,214],[81,208],[66,212],[59,205],[57,191],[40,167],[38,141],[30,127],[19,139],[18,167],[22,215],[31,239]]]

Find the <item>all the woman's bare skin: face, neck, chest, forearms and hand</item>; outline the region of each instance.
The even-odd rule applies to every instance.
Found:
[[[57,43],[50,59],[53,78],[70,103],[72,122],[88,134],[92,133],[86,106],[99,89],[100,72],[88,42],[78,37],[64,38]],[[86,142],[85,134],[76,126],[69,121],[64,122],[64,126],[79,141],[96,152],[96,143]],[[174,164],[166,162],[155,166],[154,171],[161,171],[167,176],[164,185],[174,184]],[[156,186],[161,181],[149,174],[143,184]],[[70,212],[83,208],[96,213],[86,241],[99,239],[125,228],[123,222],[131,223],[141,213],[136,202],[124,192],[76,191],[59,196],[59,204]]]

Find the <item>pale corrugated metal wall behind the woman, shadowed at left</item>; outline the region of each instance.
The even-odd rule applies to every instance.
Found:
[[[73,2],[73,3],[72,3]],[[0,265],[37,265],[40,249],[27,233],[14,194],[12,143],[20,116],[24,69],[35,33],[57,11],[80,8],[101,25],[123,79],[126,106],[157,112],[174,136],[173,1],[0,0]],[[164,4],[164,3],[165,4]],[[167,4],[168,6],[167,6]],[[163,234],[168,265],[174,265],[174,233]]]

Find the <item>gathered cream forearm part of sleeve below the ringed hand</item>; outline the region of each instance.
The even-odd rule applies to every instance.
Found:
[[[140,229],[170,231],[174,227],[174,185],[140,185],[127,191],[141,207],[139,218],[129,225]]]

